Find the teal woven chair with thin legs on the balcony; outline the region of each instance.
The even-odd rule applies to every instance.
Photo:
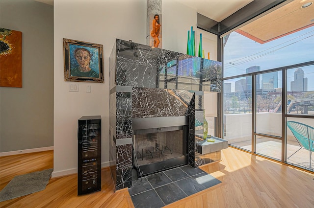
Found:
[[[299,123],[296,121],[287,121],[287,126],[291,130],[297,142],[299,143],[301,147],[300,149],[306,149],[310,151],[310,168],[311,168],[312,152],[314,151],[314,128],[312,126]],[[298,149],[296,152],[298,152],[300,149]],[[292,155],[294,155],[295,153],[293,153]],[[290,155],[288,159],[292,155]]]

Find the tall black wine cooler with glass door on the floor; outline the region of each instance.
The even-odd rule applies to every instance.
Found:
[[[78,195],[101,190],[101,119],[78,119]]]

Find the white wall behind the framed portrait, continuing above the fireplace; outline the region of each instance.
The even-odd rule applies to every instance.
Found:
[[[186,53],[187,30],[196,11],[174,0],[162,2],[162,46]],[[64,81],[62,38],[104,45],[105,83]],[[52,177],[77,172],[77,123],[102,116],[102,166],[109,162],[109,56],[115,40],[146,44],[146,0],[54,0],[54,168]],[[212,49],[213,50],[213,49]],[[85,92],[86,85],[92,92]]]

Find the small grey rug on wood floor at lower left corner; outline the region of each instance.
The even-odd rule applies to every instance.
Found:
[[[53,168],[15,176],[0,191],[0,202],[44,190],[49,182],[52,170]]]

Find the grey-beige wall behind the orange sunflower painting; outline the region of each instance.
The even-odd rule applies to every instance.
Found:
[[[53,7],[0,0],[0,27],[22,32],[22,88],[0,87],[0,156],[53,148]]]

